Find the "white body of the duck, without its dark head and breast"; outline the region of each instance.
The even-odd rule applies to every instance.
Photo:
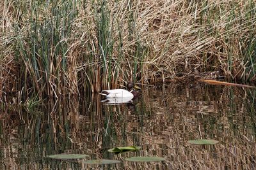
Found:
[[[102,93],[108,94],[102,94]],[[106,98],[124,98],[124,97],[134,97],[133,94],[124,89],[113,89],[113,90],[103,90],[101,95],[106,96]]]

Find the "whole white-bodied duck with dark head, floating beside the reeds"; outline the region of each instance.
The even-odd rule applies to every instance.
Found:
[[[113,89],[113,90],[102,90],[100,93],[102,96],[106,98],[124,98],[124,97],[136,97],[138,94],[132,88],[134,87],[134,83],[127,83],[127,90],[124,89]],[[138,87],[137,87],[138,88]]]

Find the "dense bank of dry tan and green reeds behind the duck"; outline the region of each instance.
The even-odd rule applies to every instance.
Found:
[[[0,93],[60,97],[221,71],[255,80],[255,1],[0,3]]]

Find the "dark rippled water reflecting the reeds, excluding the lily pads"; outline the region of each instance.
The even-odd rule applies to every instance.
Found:
[[[256,169],[255,89],[204,84],[145,87],[134,103],[106,105],[100,96],[45,101],[33,111],[3,105],[0,169]],[[215,139],[214,146],[189,145]],[[115,146],[142,146],[114,155]],[[92,166],[45,158],[159,156],[164,162]]]

